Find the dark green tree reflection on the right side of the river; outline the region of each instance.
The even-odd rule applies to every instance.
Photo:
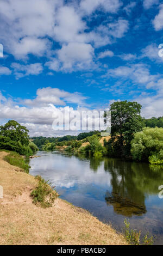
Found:
[[[163,169],[108,158],[104,159],[104,169],[111,174],[112,185],[112,191],[105,193],[106,204],[127,217],[146,214],[145,199],[149,194],[158,194]]]

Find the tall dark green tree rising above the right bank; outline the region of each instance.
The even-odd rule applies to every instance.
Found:
[[[140,131],[143,126],[140,116],[141,105],[137,102],[114,102],[110,106],[110,111],[112,142],[118,141],[119,156],[129,155],[134,133]]]

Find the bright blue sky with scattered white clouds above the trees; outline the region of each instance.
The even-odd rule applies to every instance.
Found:
[[[117,100],[141,103],[146,118],[163,115],[163,2],[1,0],[0,29],[1,124],[62,135],[52,112]]]

